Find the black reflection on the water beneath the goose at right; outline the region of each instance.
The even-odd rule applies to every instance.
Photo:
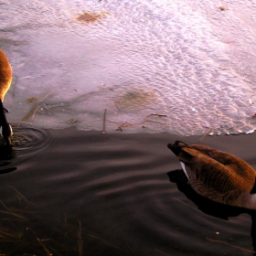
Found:
[[[218,202],[212,201],[207,197],[202,197],[188,184],[187,176],[182,169],[170,171],[167,173],[170,182],[176,183],[176,187],[179,191],[191,200],[197,208],[209,216],[213,216],[219,219],[229,220],[229,217],[238,217],[242,213],[247,213],[251,216],[251,239],[254,251],[248,251],[243,248],[237,247],[242,251],[251,252],[256,255],[256,211],[246,208],[236,208],[219,204]],[[210,239],[208,239],[210,240]],[[213,242],[220,242],[228,244],[227,242],[221,242],[219,240],[211,240]],[[230,245],[230,244],[229,244]],[[234,246],[234,245],[230,245]],[[234,246],[236,247],[236,246]]]

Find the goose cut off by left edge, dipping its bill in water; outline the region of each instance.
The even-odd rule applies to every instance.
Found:
[[[9,90],[12,82],[12,67],[5,56],[5,53],[0,49],[0,132],[5,139],[5,144],[11,146],[13,130],[5,117],[5,107],[3,101],[5,94]]]

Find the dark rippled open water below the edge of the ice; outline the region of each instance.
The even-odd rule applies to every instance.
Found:
[[[198,197],[179,171],[166,175],[180,168],[166,144],[198,138],[16,130],[13,154],[1,148],[0,253],[252,255],[250,214]],[[256,167],[253,139],[204,144]]]

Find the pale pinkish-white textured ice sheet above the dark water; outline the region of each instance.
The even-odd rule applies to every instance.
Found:
[[[14,69],[11,123],[39,105],[26,125],[100,130],[107,109],[109,132],[123,123],[125,132],[254,131],[254,1],[14,0],[0,8],[0,46]],[[86,12],[100,17],[79,20]]]

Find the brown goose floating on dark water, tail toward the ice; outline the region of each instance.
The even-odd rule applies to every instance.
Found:
[[[187,183],[202,197],[238,208],[256,209],[256,171],[236,155],[203,144],[167,144]]]

